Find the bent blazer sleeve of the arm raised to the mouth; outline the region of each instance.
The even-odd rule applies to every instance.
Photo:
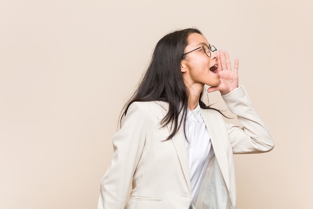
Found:
[[[241,85],[226,95],[222,95],[229,110],[236,114],[242,127],[226,123],[232,152],[260,153],[273,149],[274,142],[268,128],[256,113],[252,103]]]

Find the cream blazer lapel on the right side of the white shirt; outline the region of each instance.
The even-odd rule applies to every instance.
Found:
[[[216,119],[215,114],[209,114],[209,111],[201,109],[201,115],[208,130],[208,134],[212,143],[214,155],[216,157],[220,172],[229,191],[229,169],[227,154],[222,140],[220,140],[221,137],[223,137],[221,134],[221,130],[219,129],[219,125],[221,124],[218,124],[219,120]]]

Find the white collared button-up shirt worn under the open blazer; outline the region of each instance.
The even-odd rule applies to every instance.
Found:
[[[186,141],[186,147],[190,170],[191,204],[197,196],[199,183],[213,153],[211,140],[202,119],[199,104],[192,111],[187,109],[185,133],[188,140]]]

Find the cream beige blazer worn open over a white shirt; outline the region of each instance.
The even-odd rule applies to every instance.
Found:
[[[214,155],[202,178],[196,209],[235,208],[233,153],[260,153],[273,148],[271,135],[255,112],[243,86],[222,96],[243,127],[201,109]],[[98,209],[187,209],[190,204],[188,156],[182,128],[170,140],[161,127],[165,102],[134,102],[113,136],[111,165],[101,180]],[[132,183],[130,196],[129,185]]]

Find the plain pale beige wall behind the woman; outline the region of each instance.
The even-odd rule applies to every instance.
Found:
[[[275,139],[235,156],[238,208],[313,208],[312,11],[310,0],[0,0],[0,208],[95,208],[124,102],[156,42],[187,27],[239,58]]]

